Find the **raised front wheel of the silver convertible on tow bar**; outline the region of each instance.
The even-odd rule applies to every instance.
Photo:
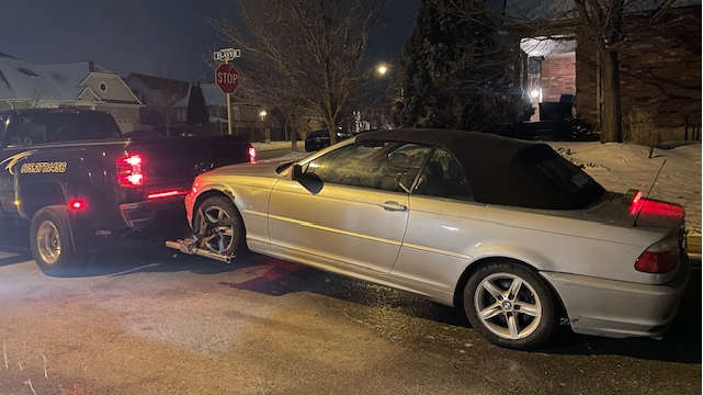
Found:
[[[247,249],[243,221],[228,198],[206,199],[195,214],[194,230],[212,252],[231,257]]]

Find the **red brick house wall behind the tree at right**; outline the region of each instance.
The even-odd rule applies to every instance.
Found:
[[[637,110],[651,115],[653,122],[662,129],[681,129],[687,123],[702,124],[701,7],[677,12],[698,14],[698,24],[645,31],[620,53],[625,129]],[[578,113],[598,121],[600,89],[593,53],[585,44],[580,44],[576,53]]]

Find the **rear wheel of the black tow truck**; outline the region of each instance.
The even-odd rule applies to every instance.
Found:
[[[45,274],[59,275],[68,270],[76,253],[66,207],[44,207],[34,215],[30,228],[30,248],[34,261]]]

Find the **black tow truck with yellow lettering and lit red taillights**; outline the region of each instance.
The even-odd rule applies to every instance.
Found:
[[[34,260],[59,275],[160,216],[184,215],[199,173],[254,156],[240,136],[124,137],[105,112],[0,112],[0,226],[27,225]]]

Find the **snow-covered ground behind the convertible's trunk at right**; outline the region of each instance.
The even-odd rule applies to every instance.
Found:
[[[687,230],[691,235],[701,234],[700,143],[655,148],[651,159],[649,147],[633,144],[552,142],[549,145],[608,190],[627,192],[634,188],[651,199],[681,204],[685,208]]]

